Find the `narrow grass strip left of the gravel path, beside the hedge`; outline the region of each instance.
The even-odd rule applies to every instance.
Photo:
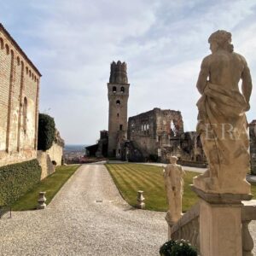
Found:
[[[54,173],[48,177],[45,177],[33,189],[21,196],[18,201],[15,201],[15,203],[12,205],[12,209],[14,211],[35,209],[38,205],[38,194],[41,191],[46,192],[46,204],[49,204],[56,193],[61,189],[63,184],[67,182],[67,179],[71,177],[78,168],[79,165],[57,166]]]

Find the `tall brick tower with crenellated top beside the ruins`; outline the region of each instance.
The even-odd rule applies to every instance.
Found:
[[[126,63],[111,64],[108,83],[108,156],[121,157],[121,144],[127,137],[127,102],[129,87]]]

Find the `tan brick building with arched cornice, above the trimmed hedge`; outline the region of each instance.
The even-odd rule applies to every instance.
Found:
[[[40,77],[0,24],[0,166],[37,157]]]

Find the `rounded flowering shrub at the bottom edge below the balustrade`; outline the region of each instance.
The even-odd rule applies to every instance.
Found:
[[[159,251],[161,256],[197,256],[195,247],[191,246],[188,241],[166,241]]]

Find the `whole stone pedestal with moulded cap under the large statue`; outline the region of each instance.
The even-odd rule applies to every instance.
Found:
[[[252,195],[207,194],[192,186],[200,201],[201,256],[241,256],[241,201]]]

